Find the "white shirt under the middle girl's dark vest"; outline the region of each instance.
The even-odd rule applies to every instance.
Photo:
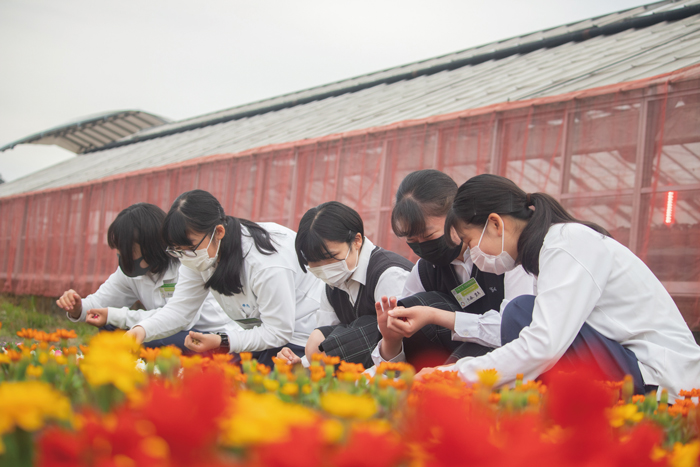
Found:
[[[365,237],[360,249],[360,258],[357,263],[357,268],[352,275],[343,282],[338,288],[345,291],[350,298],[350,303],[355,305],[355,301],[360,293],[360,286],[366,285],[367,268],[369,267],[369,259],[374,250],[374,244]],[[377,286],[374,289],[374,301],[378,302],[382,297],[397,297],[404,290],[404,283],[410,272],[400,267],[390,267],[382,273],[377,281]],[[340,324],[338,315],[328,301],[325,288],[321,294],[321,308],[316,317],[316,327],[333,326]]]

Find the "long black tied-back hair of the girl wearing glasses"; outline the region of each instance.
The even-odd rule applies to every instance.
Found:
[[[270,233],[255,222],[227,216],[219,201],[204,190],[186,191],[177,197],[165,216],[163,237],[173,246],[194,246],[188,233],[212,235],[218,225],[223,225],[226,234],[219,247],[219,263],[214,274],[204,284],[222,295],[241,293],[243,281],[242,235],[253,238],[255,248],[264,255],[276,253]],[[244,226],[248,233],[241,230]]]

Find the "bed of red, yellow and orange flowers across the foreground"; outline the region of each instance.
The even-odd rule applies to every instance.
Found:
[[[119,333],[18,333],[0,353],[0,466],[698,465],[698,389],[668,406],[583,369],[496,390],[455,373],[373,378],[242,354],[185,357]],[[141,361],[137,365],[137,359]]]

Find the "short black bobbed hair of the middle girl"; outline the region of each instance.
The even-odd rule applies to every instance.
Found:
[[[365,238],[365,227],[360,215],[350,206],[337,201],[328,201],[306,211],[299,222],[299,231],[294,241],[297,259],[306,272],[309,262],[334,258],[328,251],[326,241],[350,245],[357,234]]]

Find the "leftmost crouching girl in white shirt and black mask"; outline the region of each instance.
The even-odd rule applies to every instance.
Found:
[[[129,329],[168,302],[178,282],[180,262],[165,252],[164,219],[165,212],[148,203],[134,204],[117,215],[107,230],[107,243],[118,251],[119,266],[94,294],[82,298],[73,289],[63,293],[56,304],[66,310],[69,320],[108,330]],[[145,310],[129,308],[137,301]],[[188,330],[223,332],[233,325],[211,295],[194,310]],[[187,334],[183,331],[148,346],[176,345],[186,350]]]

